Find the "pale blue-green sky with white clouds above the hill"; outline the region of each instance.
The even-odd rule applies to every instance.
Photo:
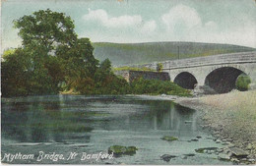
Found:
[[[196,41],[256,47],[255,0],[5,0],[2,49],[21,45],[13,20],[64,12],[93,42]]]

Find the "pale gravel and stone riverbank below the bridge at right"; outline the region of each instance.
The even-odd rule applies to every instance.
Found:
[[[249,154],[247,161],[256,163],[256,90],[179,97],[174,101],[201,111],[204,128],[211,129],[216,138],[243,149]],[[228,149],[225,152],[228,154]]]

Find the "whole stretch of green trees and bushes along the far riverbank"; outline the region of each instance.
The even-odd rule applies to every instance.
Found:
[[[129,84],[115,76],[110,60],[105,59],[99,64],[90,39],[77,38],[74,22],[63,13],[40,10],[14,21],[14,24],[19,29],[23,46],[3,54],[3,96],[57,94],[60,91],[189,95],[188,90],[175,83],[139,79]],[[152,71],[148,68],[140,70]]]

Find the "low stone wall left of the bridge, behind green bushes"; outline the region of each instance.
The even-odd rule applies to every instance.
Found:
[[[116,71],[115,75],[123,77],[128,83],[142,77],[145,80],[170,81],[166,72],[146,72],[146,71]]]

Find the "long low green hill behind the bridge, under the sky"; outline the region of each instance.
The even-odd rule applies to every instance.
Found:
[[[148,43],[108,43],[96,42],[96,59],[102,61],[108,58],[113,66],[129,64],[144,64],[156,61],[165,61],[208,56],[223,53],[255,51],[255,48],[214,43],[198,42],[148,42]]]

